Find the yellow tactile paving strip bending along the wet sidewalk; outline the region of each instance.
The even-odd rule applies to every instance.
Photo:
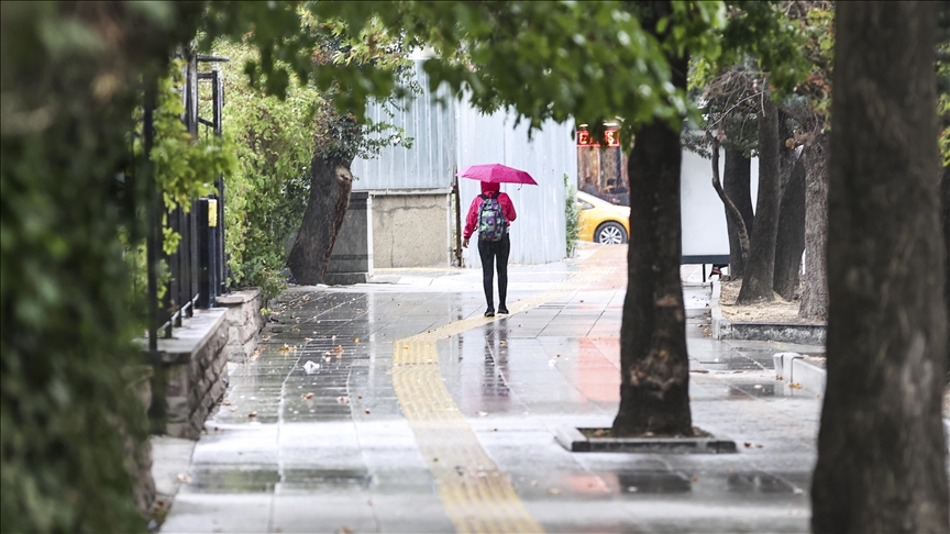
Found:
[[[611,271],[601,267],[583,269],[557,288],[518,301],[509,310],[515,314],[566,297]],[[459,532],[543,532],[521,502],[511,480],[482,448],[439,371],[437,340],[501,318],[504,315],[456,321],[393,345],[396,398],[435,478],[445,513]]]

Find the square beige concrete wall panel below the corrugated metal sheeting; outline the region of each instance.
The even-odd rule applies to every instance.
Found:
[[[373,266],[449,265],[449,192],[373,197]]]

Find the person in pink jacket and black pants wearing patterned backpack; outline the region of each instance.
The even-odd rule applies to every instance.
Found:
[[[505,298],[508,294],[508,255],[511,252],[511,240],[508,226],[517,216],[511,199],[500,191],[501,186],[494,182],[482,182],[482,194],[472,200],[468,215],[465,218],[465,232],[462,246],[468,248],[468,238],[478,230],[478,255],[482,257],[482,286],[485,289],[485,300],[488,309],[486,318],[495,316],[495,300],[493,279],[498,269],[498,313],[508,314]]]

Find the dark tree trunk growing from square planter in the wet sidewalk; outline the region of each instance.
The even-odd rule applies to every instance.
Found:
[[[669,10],[669,2],[653,2]],[[656,13],[659,16],[659,13]],[[686,87],[686,58],[671,58]],[[680,132],[655,121],[630,153],[629,282],[620,326],[620,409],[615,436],[692,435],[689,358],[680,280]]]

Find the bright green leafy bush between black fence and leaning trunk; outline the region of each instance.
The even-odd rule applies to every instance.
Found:
[[[223,127],[240,162],[225,178],[231,283],[258,286],[273,296],[285,286],[288,242],[307,209],[317,115],[327,101],[307,84],[289,86],[283,99],[248,86],[244,65],[259,57],[250,45],[219,40],[213,51],[230,58],[222,65]]]

